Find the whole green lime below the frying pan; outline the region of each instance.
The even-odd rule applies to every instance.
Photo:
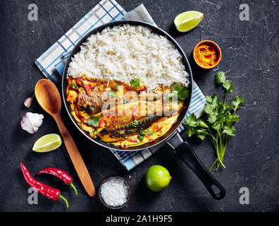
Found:
[[[163,191],[171,182],[168,169],[161,165],[152,165],[145,174],[145,183],[151,191]]]

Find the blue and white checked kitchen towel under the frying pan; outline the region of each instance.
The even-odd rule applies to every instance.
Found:
[[[49,49],[44,52],[36,61],[35,64],[39,67],[46,78],[49,78],[54,83],[61,80],[63,69],[66,64],[70,52],[75,47],[79,40],[87,35],[92,29],[99,25],[109,23],[115,20],[142,20],[156,26],[154,20],[149,15],[147,9],[143,4],[137,6],[130,12],[126,12],[114,0],[102,0],[92,8],[80,21],[78,21],[73,28],[68,30],[57,42],[55,42]],[[205,97],[197,84],[193,84],[192,102],[188,110],[188,115],[194,112],[197,117],[202,115],[204,109]],[[187,117],[187,116],[186,116]],[[184,128],[180,126],[178,131]],[[156,145],[152,148],[147,148],[139,151],[119,151],[110,149],[113,155],[123,164],[123,166],[130,171],[135,166],[147,159],[147,157],[154,154],[165,143]]]

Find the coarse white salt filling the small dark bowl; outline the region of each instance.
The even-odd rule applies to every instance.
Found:
[[[109,206],[122,206],[128,198],[127,184],[120,178],[111,178],[101,185],[101,198]]]

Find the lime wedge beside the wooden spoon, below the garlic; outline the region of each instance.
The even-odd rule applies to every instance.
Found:
[[[56,133],[46,134],[34,143],[32,150],[37,153],[46,153],[59,148],[62,144],[61,137]]]

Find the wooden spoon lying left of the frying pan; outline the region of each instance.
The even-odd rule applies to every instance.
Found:
[[[82,157],[77,150],[77,146],[73,141],[73,138],[70,136],[70,133],[64,125],[60,110],[61,110],[61,97],[56,88],[56,85],[47,79],[41,79],[37,82],[35,86],[35,95],[36,99],[39,102],[39,105],[52,117],[54,117],[56,124],[61,132],[63,141],[66,145],[70,159],[73,162],[75,170],[77,171],[78,177],[82,185],[85,187],[85,190],[89,196],[95,195],[95,188],[92,182],[92,179],[89,175],[89,172],[83,162]]]

